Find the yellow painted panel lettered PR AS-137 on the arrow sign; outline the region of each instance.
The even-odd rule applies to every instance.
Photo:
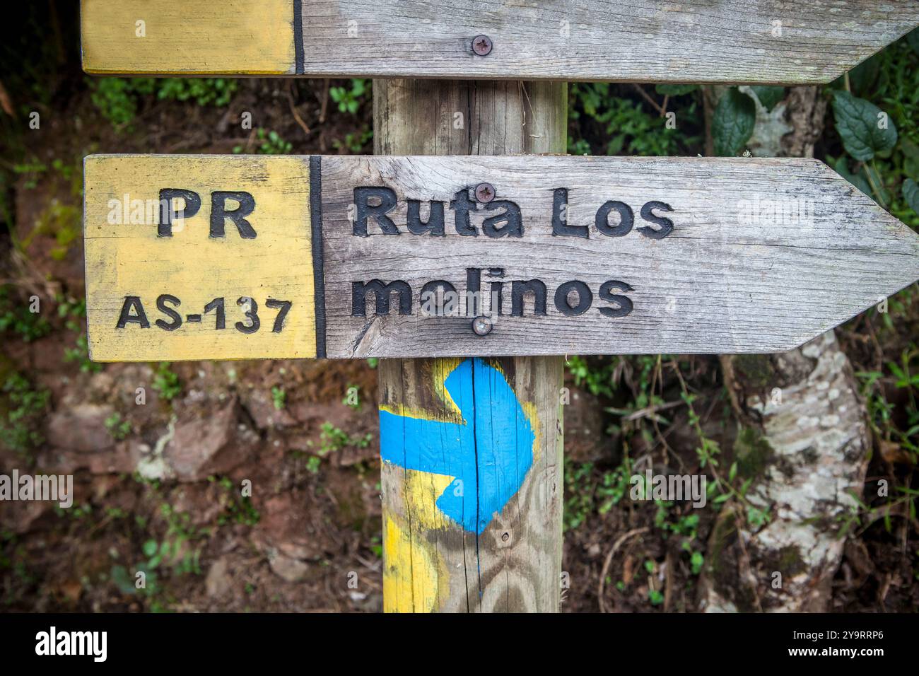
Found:
[[[199,211],[176,219],[171,236],[158,234],[161,189],[199,196]],[[240,199],[221,195],[230,191]],[[252,232],[232,217],[218,219],[222,236],[220,225],[211,232],[214,205],[245,211],[242,193],[254,201],[243,219]],[[178,210],[187,202],[170,204]],[[85,160],[84,221],[92,360],[316,356],[309,157],[91,155]],[[161,298],[166,295],[180,304]],[[205,311],[214,299],[223,299],[221,329],[216,304]],[[175,329],[168,330],[176,316],[158,301],[181,319]],[[290,302],[289,311],[276,326],[282,301]],[[257,330],[247,310],[255,310]],[[119,327],[126,317],[130,321]]]

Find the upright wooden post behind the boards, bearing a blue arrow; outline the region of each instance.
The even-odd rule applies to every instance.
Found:
[[[377,155],[566,149],[564,83],[379,79],[373,104]],[[558,612],[562,372],[561,357],[380,361],[386,612]]]

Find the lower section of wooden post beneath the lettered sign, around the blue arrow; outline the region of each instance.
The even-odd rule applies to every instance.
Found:
[[[460,363],[380,361],[380,415],[396,411],[437,427],[422,441],[398,425],[381,424],[384,609],[556,612],[562,570],[562,360],[484,360],[487,365],[477,367],[473,381],[453,385],[451,398],[444,382]],[[502,379],[516,395],[508,407],[497,394],[505,386]],[[458,394],[463,384],[465,397]],[[453,400],[465,417],[454,412]],[[517,430],[532,433],[531,444],[516,443]],[[514,453],[502,458],[508,441]],[[431,443],[431,455],[442,459],[437,472],[405,466],[418,443]],[[525,462],[531,465],[519,489],[501,510],[488,513],[485,486],[507,479]],[[475,468],[473,480],[458,484],[466,464]],[[465,491],[464,508],[475,510],[473,519],[485,524],[481,533],[438,508],[438,498],[455,490]]]

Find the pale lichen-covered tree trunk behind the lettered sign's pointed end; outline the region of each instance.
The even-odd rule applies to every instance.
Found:
[[[706,97],[710,110],[717,92]],[[772,111],[757,103],[749,146],[754,155],[812,156],[824,112],[816,87],[789,90]],[[739,421],[735,483],[750,484],[712,530],[701,606],[826,611],[845,544],[839,517],[856,504],[851,493],[861,495],[868,459],[851,365],[833,331],[782,354],[723,356],[721,365]]]

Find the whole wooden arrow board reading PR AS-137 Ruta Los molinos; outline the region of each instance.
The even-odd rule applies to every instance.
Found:
[[[96,361],[777,352],[917,255],[817,160],[85,161]]]

